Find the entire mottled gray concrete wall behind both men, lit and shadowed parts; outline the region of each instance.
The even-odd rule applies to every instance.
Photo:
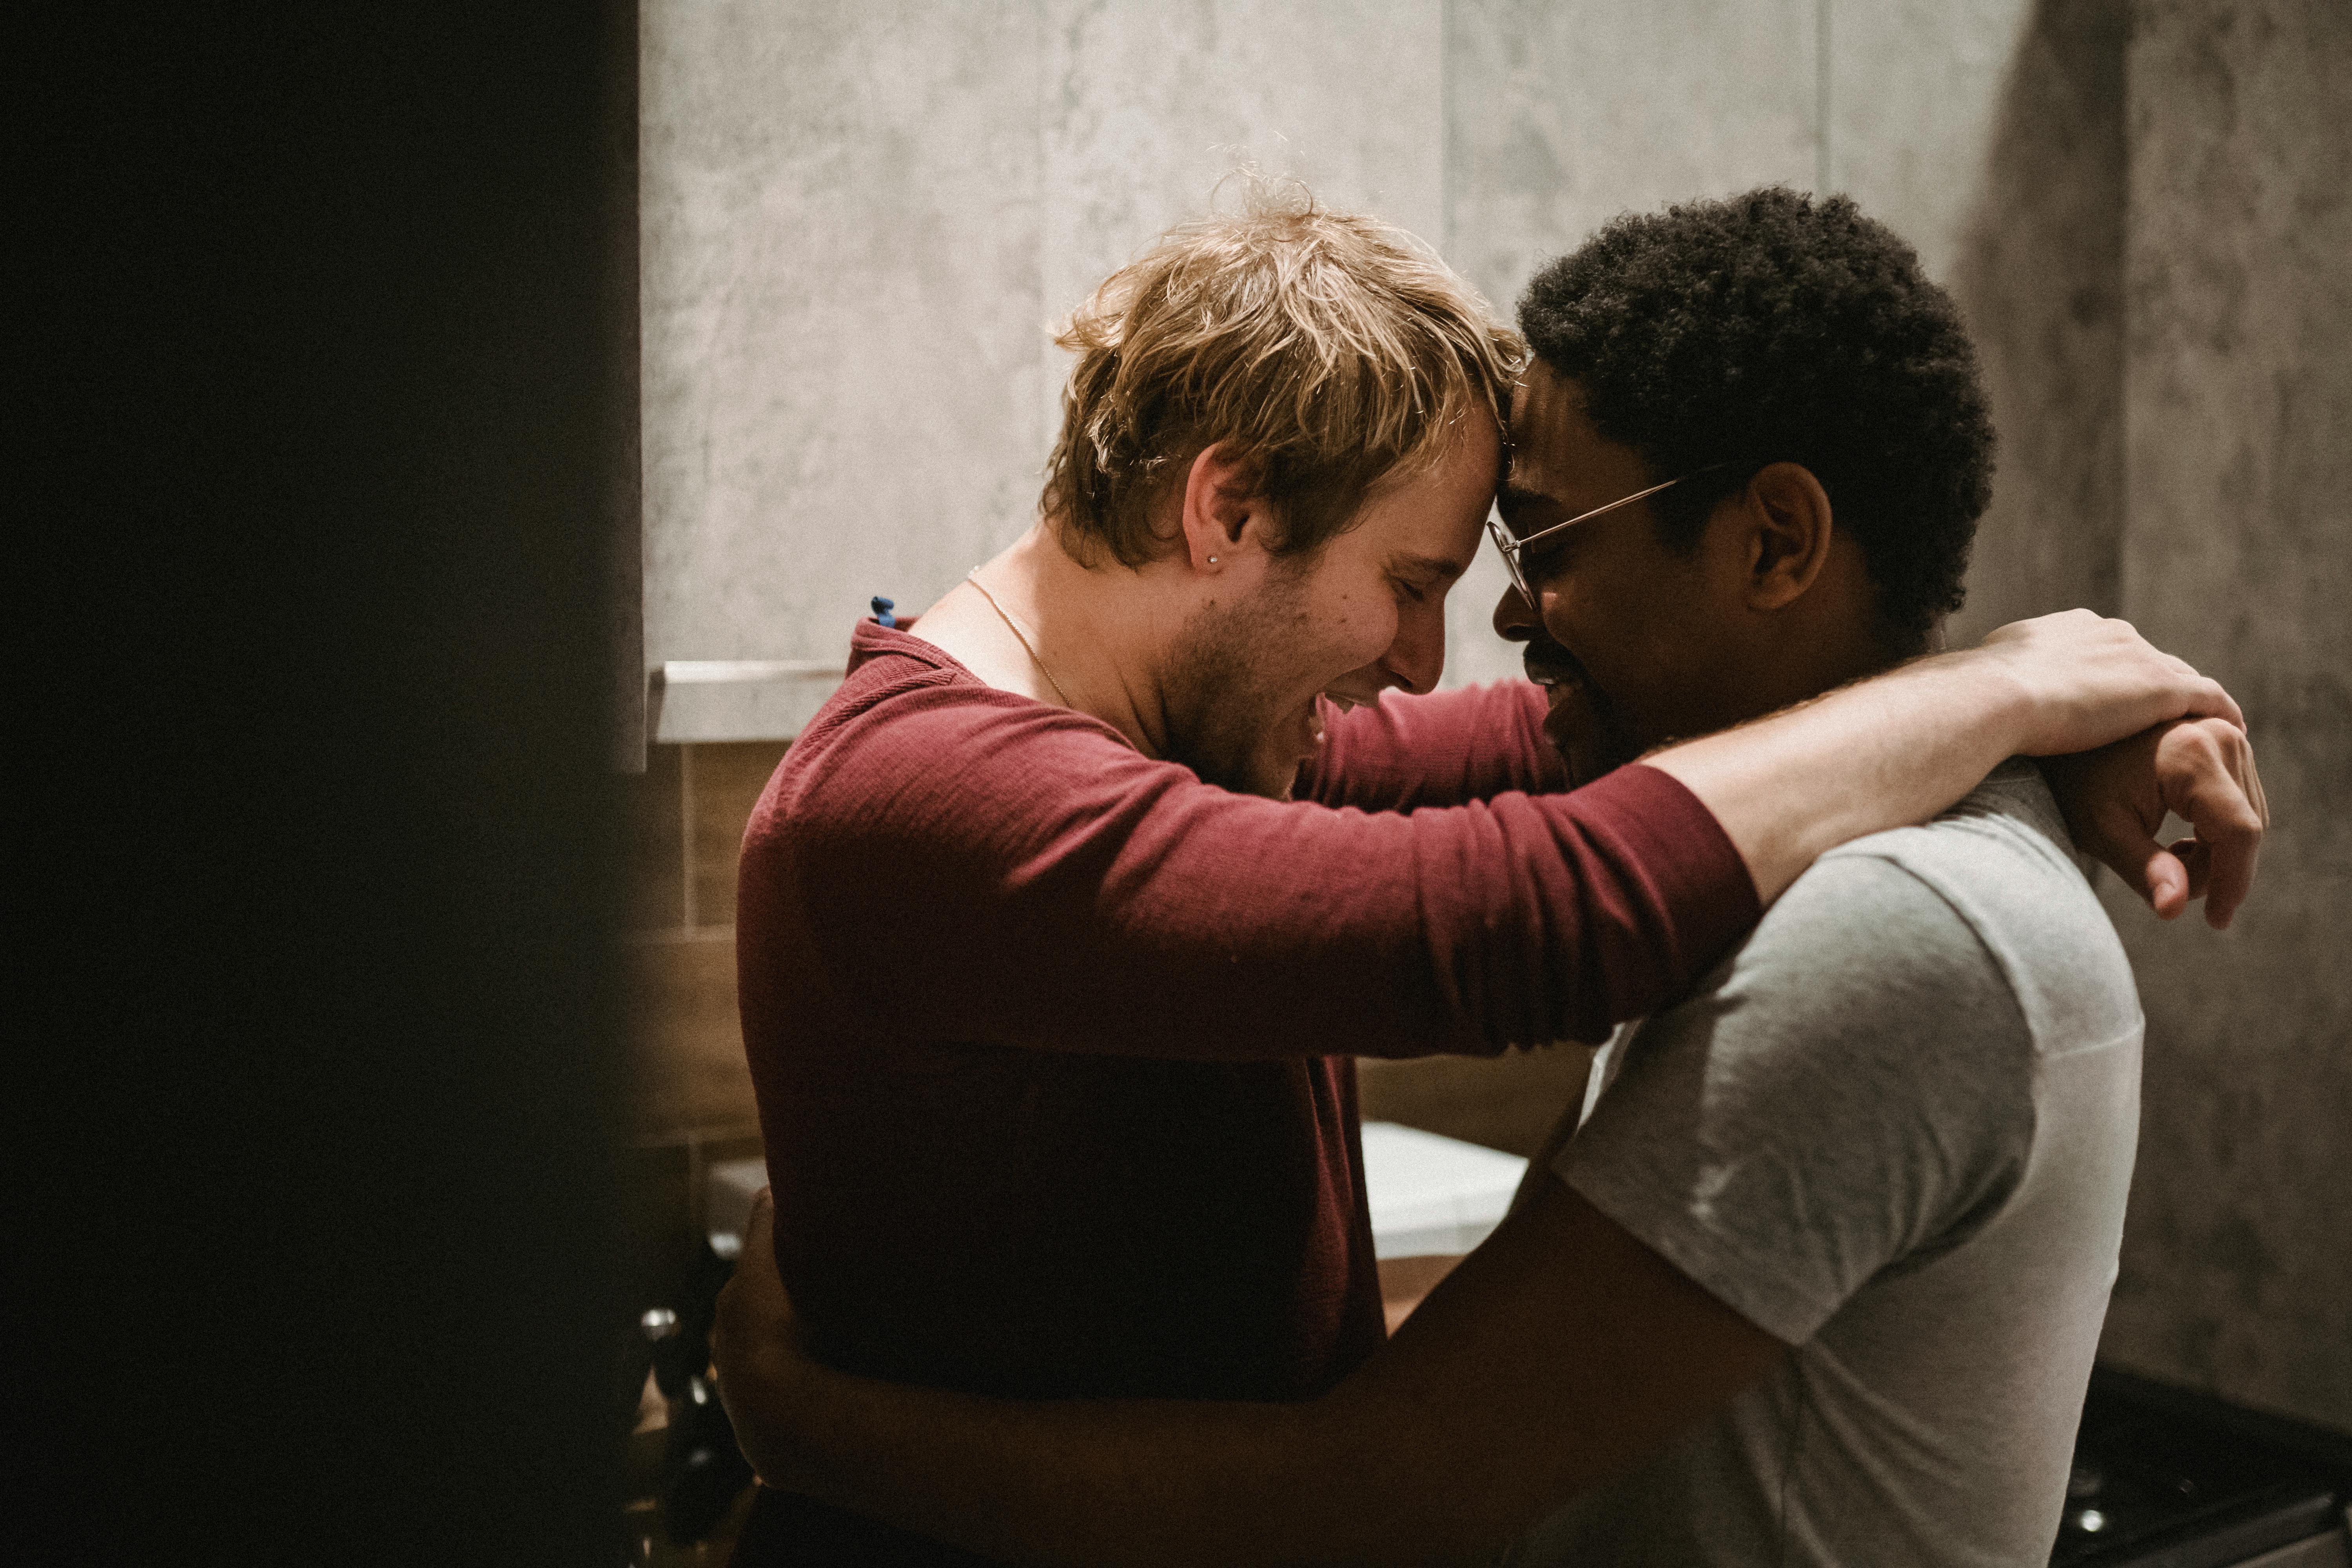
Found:
[[[2002,433],[1955,637],[2140,621],[2246,701],[2279,809],[2239,931],[2117,910],[2150,1086],[2107,1352],[2352,1427],[2340,0],[647,0],[642,28],[652,663],[837,656],[870,592],[927,604],[1028,527],[1049,322],[1244,158],[1503,308],[1686,195],[1835,188],[1905,233]],[[1456,592],[1449,679],[1515,668],[1498,590],[1482,559]],[[1369,1093],[1444,1119],[1508,1072]]]

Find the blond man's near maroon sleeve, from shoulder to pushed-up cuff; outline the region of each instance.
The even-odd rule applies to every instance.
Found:
[[[1195,1060],[1599,1039],[1759,919],[1653,769],[1411,816],[1284,804],[910,661],[786,757],[741,900],[746,954],[793,929],[877,1030]]]

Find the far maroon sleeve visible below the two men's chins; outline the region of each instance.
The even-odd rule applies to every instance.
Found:
[[[1324,806],[1416,811],[1505,790],[1566,790],[1543,708],[1543,689],[1524,679],[1430,696],[1390,691],[1352,712],[1324,703],[1324,743],[1298,769],[1294,792]]]

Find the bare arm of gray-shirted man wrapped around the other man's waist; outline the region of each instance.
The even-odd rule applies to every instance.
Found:
[[[764,1199],[720,1295],[760,1474],[1021,1563],[1430,1563],[1625,1474],[1783,1354],[1559,1182],[1303,1403],[974,1399],[795,1352]]]

